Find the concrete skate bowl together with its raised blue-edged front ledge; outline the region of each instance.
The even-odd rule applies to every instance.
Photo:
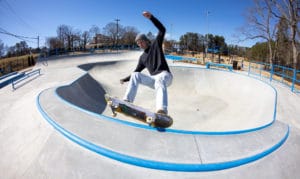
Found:
[[[203,68],[171,67],[171,128],[152,128],[123,115],[112,118],[104,94],[124,93],[126,85],[120,85],[119,79],[128,75],[133,64],[81,65],[85,75],[70,85],[40,93],[37,101],[41,113],[55,129],[82,147],[159,170],[237,167],[265,157],[288,138],[289,127],[274,123],[277,96],[271,86],[247,76]],[[154,91],[139,88],[136,104],[153,109]]]

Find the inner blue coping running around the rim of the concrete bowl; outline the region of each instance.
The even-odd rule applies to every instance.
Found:
[[[185,66],[172,66],[175,68],[193,68],[193,69],[202,69],[202,70],[216,70],[216,71],[223,71],[223,72],[227,72],[227,73],[234,73],[237,75],[243,75],[247,78],[253,78],[251,76],[248,75],[244,75],[244,74],[238,74],[235,72],[231,72],[231,71],[227,71],[227,70],[222,70],[222,69],[206,69],[206,68],[201,68],[201,67],[185,67]],[[85,74],[84,74],[85,75]],[[80,77],[79,77],[80,78]],[[241,133],[248,133],[248,132],[253,132],[253,131],[257,131],[257,130],[261,130],[263,128],[266,128],[270,125],[272,125],[275,120],[276,120],[276,113],[277,113],[277,90],[269,83],[266,83],[263,80],[257,79],[257,78],[253,78],[255,80],[258,80],[262,83],[265,83],[266,85],[269,85],[275,93],[275,104],[274,104],[274,113],[273,113],[273,119],[271,120],[271,122],[256,127],[256,128],[250,128],[250,129],[244,129],[244,130],[232,130],[232,131],[192,131],[192,130],[181,130],[181,129],[171,129],[171,128],[155,128],[149,125],[144,125],[144,124],[138,124],[138,123],[134,123],[134,122],[129,122],[129,121],[124,121],[122,119],[118,119],[118,118],[113,118],[113,117],[109,117],[103,114],[97,114],[91,111],[88,111],[86,109],[83,109],[79,106],[76,106],[68,101],[66,101],[65,99],[63,99],[61,96],[59,96],[55,90],[55,96],[58,97],[58,99],[60,99],[62,102],[66,103],[67,105],[72,106],[73,108],[76,108],[82,112],[88,113],[89,115],[93,115],[95,117],[101,118],[101,119],[105,119],[105,120],[110,120],[113,122],[117,122],[117,123],[121,123],[121,124],[125,124],[131,127],[137,127],[137,128],[143,128],[143,129],[147,129],[147,130],[156,130],[156,131],[160,131],[160,132],[170,132],[170,133],[179,133],[179,134],[193,134],[193,135],[231,135],[231,134],[241,134]],[[76,81],[76,80],[75,80]],[[75,82],[74,81],[74,82]]]

